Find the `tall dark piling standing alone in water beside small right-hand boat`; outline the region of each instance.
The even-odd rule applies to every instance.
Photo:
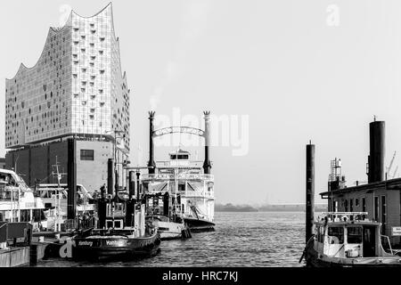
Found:
[[[315,218],[315,144],[307,144],[306,242],[312,237]]]

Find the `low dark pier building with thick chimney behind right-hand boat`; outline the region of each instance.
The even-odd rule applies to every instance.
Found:
[[[368,219],[381,223],[381,234],[389,236],[391,246],[401,248],[401,178],[385,175],[384,121],[370,123],[369,145],[367,182],[347,185],[345,175],[338,175],[320,195],[332,212],[367,212]]]

